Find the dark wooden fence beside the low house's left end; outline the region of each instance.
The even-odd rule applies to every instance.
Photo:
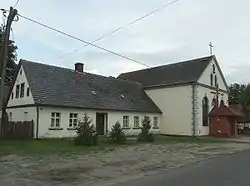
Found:
[[[4,139],[32,139],[34,137],[33,121],[9,121],[2,124]]]

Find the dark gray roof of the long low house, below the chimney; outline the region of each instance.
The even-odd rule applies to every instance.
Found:
[[[157,112],[141,84],[20,61],[36,104],[102,110]]]

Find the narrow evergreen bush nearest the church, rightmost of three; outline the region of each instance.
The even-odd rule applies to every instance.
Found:
[[[153,134],[149,133],[150,129],[151,129],[150,119],[149,117],[145,116],[144,119],[142,120],[141,133],[138,135],[138,140],[144,142],[153,142],[154,136]]]

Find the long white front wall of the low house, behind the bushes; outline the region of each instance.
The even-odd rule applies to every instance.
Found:
[[[49,130],[51,124],[51,113],[59,112],[61,114],[60,128],[62,130]],[[140,129],[133,129],[134,116],[140,117],[141,120],[144,116],[149,116],[151,121],[154,116],[158,117],[159,124],[161,120],[160,114],[150,114],[150,113],[136,113],[136,112],[119,112],[119,111],[104,111],[104,110],[85,110],[85,109],[71,109],[71,108],[56,108],[56,107],[40,107],[39,108],[39,138],[61,138],[61,137],[74,137],[76,135],[75,130],[68,130],[69,128],[69,114],[78,113],[78,118],[82,119],[84,114],[87,115],[92,120],[92,124],[95,126],[96,123],[96,113],[107,113],[108,114],[108,131],[111,131],[112,126],[119,121],[122,125],[123,116],[129,116],[129,126],[130,129],[124,129],[127,135],[136,135],[140,132]],[[152,124],[152,123],[151,123]],[[106,126],[104,126],[106,128]],[[159,129],[151,129],[152,133],[159,133]]]

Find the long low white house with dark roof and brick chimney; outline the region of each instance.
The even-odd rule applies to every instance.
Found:
[[[159,132],[161,111],[136,82],[20,60],[7,104],[9,120],[34,121],[35,138],[72,137],[86,113],[102,135],[118,121],[129,135],[144,116]]]

